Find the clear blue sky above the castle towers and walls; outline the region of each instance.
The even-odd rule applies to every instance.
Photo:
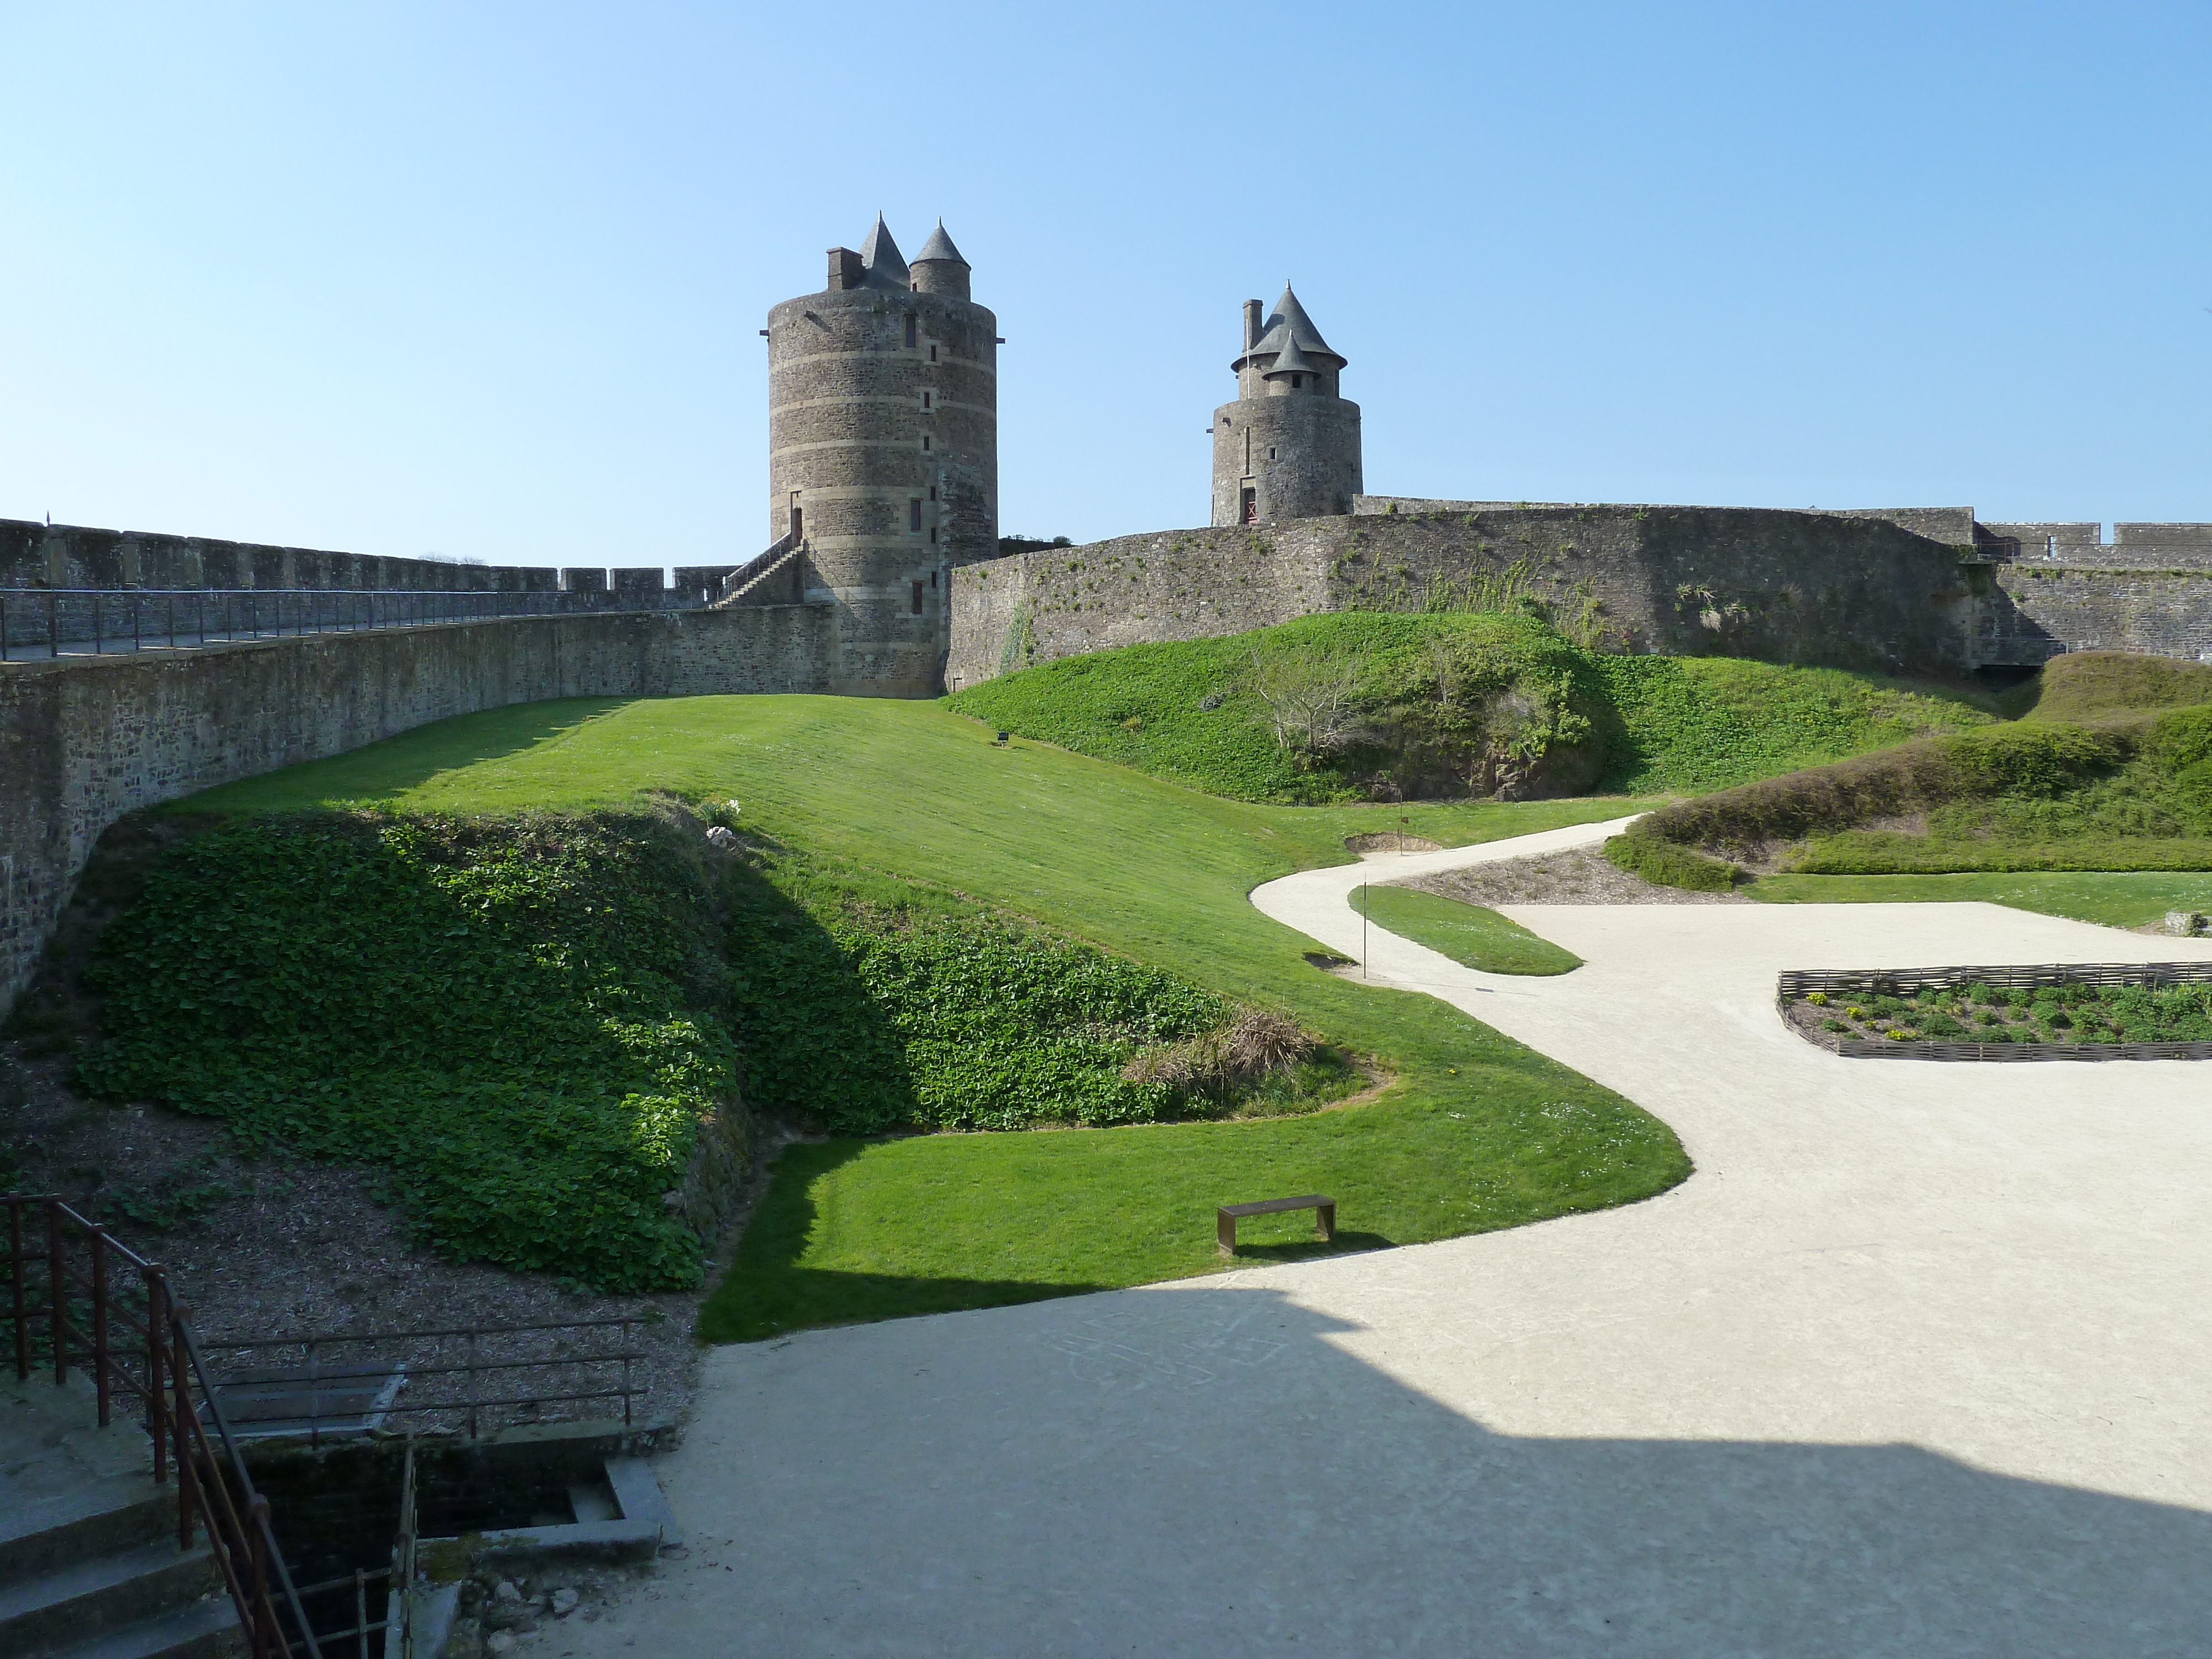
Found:
[[[1201,524],[1285,276],[1367,487],[2212,520],[2212,7],[15,4],[0,515],[768,540],[765,310],[1000,316],[1002,529]]]

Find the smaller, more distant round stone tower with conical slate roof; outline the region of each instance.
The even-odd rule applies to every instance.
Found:
[[[1245,301],[1237,403],[1214,409],[1214,524],[1349,513],[1360,493],[1360,405],[1336,396],[1345,358],[1283,288]]]

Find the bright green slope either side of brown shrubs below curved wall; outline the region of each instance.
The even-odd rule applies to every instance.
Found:
[[[1599,785],[1624,794],[1721,790],[1991,719],[1966,692],[1836,668],[1732,657],[1608,657],[1577,650],[1522,617],[1378,611],[1062,657],[958,692],[949,706],[1212,794],[1305,799],[1314,787],[1343,790],[1349,781],[1327,770],[1318,779],[1301,774],[1276,748],[1261,723],[1259,699],[1241,688],[1254,646],[1298,639],[1374,655],[1438,628],[1484,624],[1502,637],[1515,626],[1542,635],[1526,644],[1573,664],[1577,697],[1606,748]],[[1208,699],[1219,701],[1203,708]]]

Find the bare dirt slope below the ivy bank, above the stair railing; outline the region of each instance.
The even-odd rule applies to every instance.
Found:
[[[681,1416],[697,1363],[699,1292],[602,1296],[544,1274],[458,1263],[418,1245],[372,1179],[312,1159],[246,1157],[228,1128],[166,1106],[86,1102],[69,1062],[0,1048],[0,1188],[55,1192],[168,1267],[206,1336],[418,1332],[644,1316],[633,1411]],[[765,1186],[770,1141],[730,1237]],[[540,1420],[606,1416],[606,1400]],[[619,1402],[613,1402],[619,1413]]]

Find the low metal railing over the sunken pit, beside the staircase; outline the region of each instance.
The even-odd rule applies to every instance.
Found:
[[[449,1429],[473,1440],[487,1418],[493,1425],[542,1422],[546,1407],[593,1400],[622,1400],[628,1427],[644,1394],[633,1367],[646,1358],[633,1347],[630,1327],[646,1318],[617,1314],[436,1332],[210,1336],[208,1352],[223,1354],[232,1365],[217,1387],[248,1433],[305,1433],[310,1444],[321,1444],[327,1431],[358,1433],[383,1418],[409,1416],[422,1429]],[[602,1352],[602,1332],[619,1332],[617,1347]],[[487,1378],[495,1378],[489,1391]],[[420,1383],[429,1389],[416,1391]],[[252,1396],[252,1407],[243,1407],[241,1396]]]

